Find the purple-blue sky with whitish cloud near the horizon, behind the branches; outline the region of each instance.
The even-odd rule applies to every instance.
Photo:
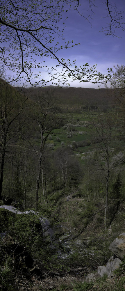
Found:
[[[50,3],[50,0],[47,0],[48,3]],[[36,19],[38,21],[38,27],[41,26],[41,19],[44,19],[45,16],[45,9],[47,6],[47,1],[44,0],[43,2],[40,1],[40,5],[39,5],[39,1],[37,3],[37,9],[36,10],[36,6],[33,6],[33,13],[31,15],[34,15],[33,17],[33,25],[36,24]],[[104,0],[107,2],[107,0]],[[112,10],[114,9],[113,6],[115,7],[115,0],[109,0],[109,6],[110,7],[110,11],[112,14]],[[13,4],[11,3],[12,1],[10,1],[9,3],[9,8],[10,11],[12,10],[12,6]],[[15,0],[15,2],[18,2],[18,0]],[[37,0],[36,0],[37,2]],[[70,59],[71,64],[72,64],[72,69],[74,69],[73,66],[73,61],[76,59],[76,65],[78,67],[83,67],[84,64],[88,63],[91,67],[93,65],[97,64],[97,71],[100,71],[102,74],[106,74],[107,73],[107,68],[113,68],[114,65],[125,65],[125,56],[124,56],[124,51],[125,51],[125,0],[117,0],[116,5],[117,5],[117,11],[123,11],[124,13],[122,14],[123,17],[123,27],[122,28],[117,28],[116,29],[116,36],[106,36],[105,32],[102,32],[102,27],[106,27],[107,23],[110,22],[110,18],[106,18],[106,15],[108,14],[108,11],[106,10],[106,3],[102,2],[101,0],[79,0],[79,2],[81,3],[81,6],[79,6],[78,10],[81,14],[83,14],[84,17],[88,17],[88,15],[90,15],[90,22],[88,20],[86,20],[84,17],[82,17],[81,15],[79,15],[79,13],[74,10],[73,8],[71,8],[71,10],[69,10],[67,13],[62,13],[62,22],[59,23],[59,27],[64,27],[64,38],[65,40],[62,40],[61,37],[58,38],[58,35],[52,34],[52,37],[56,37],[56,40],[54,40],[51,43],[49,42],[48,44],[46,43],[46,37],[47,37],[47,41],[48,39],[50,39],[51,37],[48,34],[48,31],[46,32],[45,35],[38,34],[37,35],[37,39],[41,38],[41,42],[44,45],[48,45],[49,47],[53,46],[56,44],[56,42],[59,42],[59,45],[56,45],[56,47],[60,47],[61,45],[64,45],[65,42],[72,42],[72,40],[74,40],[74,44],[75,43],[80,43],[81,45],[77,45],[74,46],[72,48],[69,49],[59,49],[58,52],[56,53],[56,56],[61,60],[61,58],[64,58],[65,61],[67,61],[68,59]],[[6,3],[8,3],[8,0],[6,0]],[[25,4],[27,3],[27,8],[29,6],[30,1],[26,0],[26,1],[20,1],[19,3],[23,3],[22,5],[24,5],[23,7],[25,8]],[[44,9],[42,8],[42,4],[44,3],[45,7]],[[56,3],[56,4],[55,4]],[[69,1],[70,3],[70,1]],[[72,0],[72,5],[74,5],[74,3],[76,3],[76,1]],[[93,3],[96,5],[96,7],[92,6],[92,10],[89,7],[89,3]],[[64,4],[64,6],[66,5],[65,1],[60,1],[59,2],[60,7],[61,4]],[[54,6],[53,6],[54,5]],[[34,8],[35,7],[35,8]],[[58,9],[58,1],[57,0],[52,0],[51,1],[51,7],[57,7],[55,9]],[[66,6],[67,7],[67,6]],[[41,8],[41,10],[40,10]],[[30,9],[30,6],[29,6]],[[43,10],[42,10],[43,9]],[[47,7],[47,11],[49,11],[49,8]],[[67,8],[66,8],[67,9]],[[52,8],[53,10],[53,8]],[[20,11],[20,10],[19,10]],[[13,11],[12,11],[13,12]],[[40,17],[37,17],[37,12],[38,15]],[[56,10],[56,12],[58,13],[58,11]],[[19,12],[20,14],[18,15],[19,19],[21,18],[22,20],[21,25],[23,24],[23,20],[25,18],[22,18],[22,10],[21,12]],[[40,13],[40,14],[39,14]],[[42,15],[41,15],[42,13]],[[48,12],[47,12],[48,13]],[[55,10],[53,10],[54,13],[54,17],[55,17]],[[4,15],[4,7],[3,7],[3,15]],[[12,13],[12,15],[14,15]],[[11,24],[11,17],[15,17],[12,16],[8,13],[8,18],[6,19],[6,21],[8,21],[9,17],[9,21]],[[24,13],[25,15],[25,13]],[[52,14],[53,15],[53,14]],[[58,14],[57,14],[58,15]],[[113,15],[113,14],[112,14]],[[44,16],[44,17],[43,17]],[[119,15],[116,15],[117,17]],[[6,16],[7,17],[7,16]],[[26,16],[27,17],[27,16]],[[42,18],[43,17],[43,18]],[[58,16],[57,16],[58,17]],[[68,18],[66,18],[68,17]],[[52,18],[53,19],[53,18]],[[14,18],[14,20],[15,18]],[[26,18],[27,21],[27,18]],[[25,21],[24,21],[25,22]],[[49,20],[48,20],[49,22]],[[46,19],[43,21],[43,25],[47,25],[48,26],[48,22],[46,23]],[[63,22],[65,22],[65,24],[63,25]],[[26,23],[27,24],[27,23]],[[52,25],[52,21],[50,18],[50,24]],[[29,25],[29,23],[28,23]],[[40,25],[40,26],[39,26]],[[51,27],[50,25],[50,27]],[[22,26],[23,27],[23,26]],[[44,30],[45,32],[45,30]],[[58,32],[58,31],[57,31]],[[53,33],[53,31],[52,31]],[[30,39],[30,37],[28,36],[28,38],[26,39],[26,43],[25,43],[25,37],[23,38],[22,33],[20,33],[21,37],[22,37],[22,48],[23,48],[23,57],[24,57],[24,61],[27,58],[27,51],[26,48],[28,48],[28,65],[30,65],[30,60],[31,63],[33,64],[32,69],[30,70],[28,65],[27,65],[27,70],[29,70],[29,74],[31,72],[31,82],[35,82],[38,81],[36,77],[39,77],[39,81],[41,82],[42,79],[44,80],[49,80],[50,76],[51,76],[51,68],[57,68],[57,70],[59,71],[59,73],[61,72],[61,68],[60,67],[56,67],[56,65],[58,65],[57,61],[55,61],[53,59],[53,57],[51,58],[51,56],[49,55],[49,57],[47,58],[47,56],[44,56],[44,54],[46,54],[46,52],[43,54],[42,49],[43,46],[42,44],[39,44],[39,42],[37,42],[37,49],[34,51],[34,47],[33,50],[31,49],[32,47],[32,41]],[[5,46],[8,48],[8,40],[9,40],[9,36],[8,38],[4,39],[6,37],[6,33],[3,32],[3,46],[4,46],[4,42],[5,42]],[[15,31],[13,32],[13,37],[14,37],[14,41],[15,41]],[[11,42],[14,45],[13,42],[13,37]],[[19,44],[19,40],[17,37],[18,41],[18,47],[20,48],[20,44]],[[28,45],[27,45],[28,43]],[[10,45],[11,47],[11,45]],[[12,46],[13,48],[13,46]],[[39,52],[39,48],[40,48],[40,52]],[[43,50],[47,50],[46,48]],[[10,49],[11,51],[11,49]],[[8,64],[10,64],[10,70],[12,70],[12,75],[13,73],[15,74],[14,77],[17,77],[17,74],[19,74],[21,72],[21,77],[24,77],[24,72],[22,72],[22,67],[20,66],[20,63],[18,63],[18,61],[16,60],[16,55],[18,57],[19,54],[19,61],[22,62],[22,56],[21,56],[21,50],[20,51],[14,51],[14,54],[12,54],[12,56],[14,56],[14,58],[11,59],[11,56],[8,56],[8,51],[7,51],[7,55],[5,54],[5,57],[7,56],[7,61]],[[13,53],[13,50],[12,50]],[[41,54],[40,54],[41,53]],[[35,66],[35,60],[36,59],[36,63],[40,63],[40,66],[45,66],[42,68],[38,68],[37,66]],[[16,62],[18,63],[18,66],[16,68],[16,65],[14,63],[13,60],[16,60]],[[27,61],[27,59],[26,59]],[[45,63],[44,63],[45,62]],[[13,67],[11,66],[11,63],[13,65]],[[26,62],[25,62],[26,63]],[[24,64],[25,64],[24,63]],[[49,74],[50,72],[50,74]],[[11,71],[9,71],[9,73],[11,74]],[[52,73],[54,74],[55,71],[53,70]],[[33,77],[35,79],[33,79]],[[54,75],[55,78],[55,75]],[[22,79],[21,79],[22,80]],[[25,78],[26,80],[26,78]],[[69,81],[69,80],[68,80]],[[20,81],[22,82],[22,81]],[[58,83],[57,80],[55,80],[55,82]],[[22,83],[20,83],[21,85]],[[52,84],[52,81],[48,83],[48,85]],[[62,83],[60,83],[60,86],[62,85]],[[66,84],[65,84],[66,86]],[[94,87],[94,88],[98,88],[99,84],[92,84],[92,83],[79,83],[79,81],[73,81],[70,83],[70,86],[75,86],[75,87]],[[104,87],[104,85],[103,85]]]

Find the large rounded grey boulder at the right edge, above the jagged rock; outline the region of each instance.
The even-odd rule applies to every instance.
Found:
[[[122,260],[125,256],[125,233],[116,237],[110,244],[109,249]]]

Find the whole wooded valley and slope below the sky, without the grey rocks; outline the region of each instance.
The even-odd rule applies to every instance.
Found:
[[[0,82],[1,290],[100,290],[81,278],[124,230],[124,88]]]

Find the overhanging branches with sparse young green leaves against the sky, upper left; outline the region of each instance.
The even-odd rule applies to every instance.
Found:
[[[97,65],[88,63],[78,68],[76,60],[60,59],[58,51],[74,45],[73,40],[65,42],[64,27],[66,13],[76,10],[84,19],[91,22],[92,16],[80,13],[79,0],[5,0],[0,1],[0,65],[15,75],[15,80],[22,77],[34,86],[44,86],[49,81],[55,84],[69,84],[69,80],[80,82],[101,82],[109,78],[97,71]],[[90,7],[89,7],[90,6]],[[88,8],[93,12],[95,0],[88,1]],[[116,28],[124,29],[124,11],[118,11],[106,1],[106,18],[109,23],[103,31],[115,35]],[[56,67],[49,68],[46,58],[56,61]],[[46,77],[45,77],[46,76]]]

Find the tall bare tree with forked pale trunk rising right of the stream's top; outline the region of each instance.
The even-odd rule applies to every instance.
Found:
[[[51,91],[45,91],[42,95],[37,96],[39,102],[31,109],[34,116],[31,119],[35,120],[40,131],[40,148],[36,151],[38,157],[38,172],[36,177],[36,210],[38,210],[38,192],[40,184],[40,175],[43,169],[42,159],[44,148],[48,136],[53,133],[53,129],[60,124],[61,117],[60,108],[56,106],[54,97]]]

